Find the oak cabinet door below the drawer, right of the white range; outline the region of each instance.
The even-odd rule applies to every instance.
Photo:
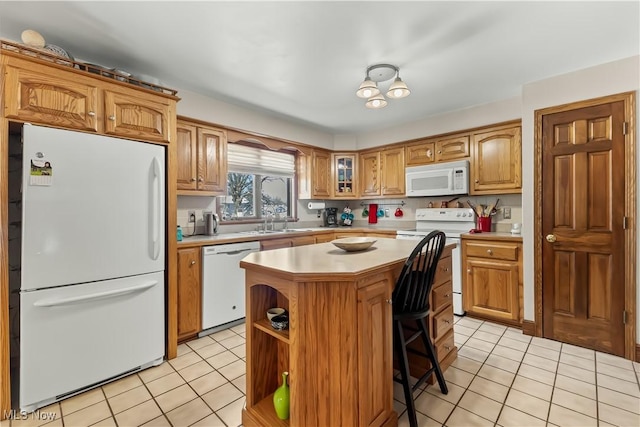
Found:
[[[518,264],[467,258],[464,308],[471,314],[519,321]]]

